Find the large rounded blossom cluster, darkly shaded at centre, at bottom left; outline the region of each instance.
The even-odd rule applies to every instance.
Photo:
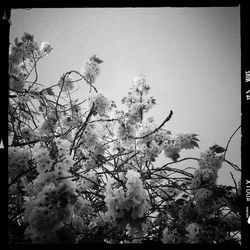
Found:
[[[29,226],[26,235],[32,243],[55,243],[55,232],[70,219],[75,202],[74,189],[66,181],[57,186],[50,183],[36,199],[27,200],[24,216]]]

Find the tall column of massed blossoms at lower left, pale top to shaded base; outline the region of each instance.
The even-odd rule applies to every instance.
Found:
[[[32,182],[22,178],[27,194],[24,218],[29,225],[25,235],[32,243],[60,243],[65,223],[78,228],[83,223],[75,218],[86,202],[78,201],[77,183],[68,178],[74,164],[69,150],[70,142],[60,138],[54,139],[50,150],[39,144],[32,149],[38,175]]]

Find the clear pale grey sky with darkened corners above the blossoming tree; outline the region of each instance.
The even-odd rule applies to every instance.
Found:
[[[214,144],[226,147],[241,124],[239,7],[15,9],[11,22],[10,42],[28,32],[38,44],[51,43],[51,54],[38,65],[45,86],[96,54],[104,63],[95,87],[121,107],[134,77],[145,75],[157,101],[148,116],[160,124],[172,110],[164,128],[199,135],[200,149],[181,157],[199,157]],[[227,159],[241,166],[241,131]],[[233,185],[230,171],[240,177],[224,164],[218,182]]]

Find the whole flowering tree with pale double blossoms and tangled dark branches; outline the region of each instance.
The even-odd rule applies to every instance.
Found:
[[[172,111],[160,125],[145,120],[156,103],[145,76],[121,111],[94,86],[96,55],[55,85],[38,83],[51,50],[28,33],[10,46],[9,243],[239,243],[240,182],[216,182],[224,162],[240,171],[226,159],[232,137],[181,158],[199,147],[198,135],[166,130]],[[83,100],[74,99],[79,82],[89,88]],[[184,161],[195,170],[174,167]]]

